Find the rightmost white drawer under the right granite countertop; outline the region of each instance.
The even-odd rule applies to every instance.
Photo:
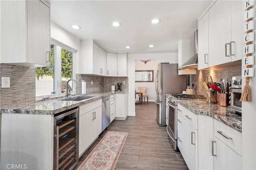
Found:
[[[242,133],[214,120],[214,136],[242,156]]]

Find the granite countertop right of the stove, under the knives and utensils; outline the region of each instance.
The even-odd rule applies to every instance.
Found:
[[[170,94],[166,96],[172,97]],[[242,132],[242,115],[236,114],[228,107],[208,103],[205,100],[178,100],[178,104],[184,106],[194,114],[210,116],[227,126]]]

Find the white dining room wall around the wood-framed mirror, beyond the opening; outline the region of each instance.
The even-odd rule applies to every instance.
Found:
[[[148,101],[154,102],[156,100],[156,90],[155,90],[155,74],[158,60],[151,60],[144,64],[140,60],[135,61],[135,70],[154,70],[153,81],[154,82],[135,82],[135,89],[138,90],[138,87],[146,87],[146,94],[148,94]],[[138,95],[136,95],[138,99]],[[145,101],[147,99],[145,98]]]

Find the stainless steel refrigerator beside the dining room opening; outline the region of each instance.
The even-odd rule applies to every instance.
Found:
[[[178,75],[178,64],[158,63],[156,76],[156,120],[166,126],[166,93],[179,94],[186,89],[186,76]]]

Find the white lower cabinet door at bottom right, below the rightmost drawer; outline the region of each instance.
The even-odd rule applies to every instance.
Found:
[[[242,157],[214,136],[214,169],[242,170]]]

